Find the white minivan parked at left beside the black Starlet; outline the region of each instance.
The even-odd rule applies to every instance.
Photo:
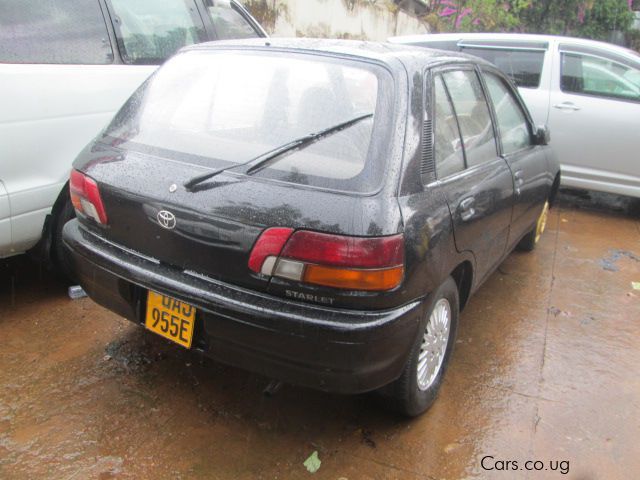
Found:
[[[266,33],[235,0],[2,0],[0,258],[60,264],[78,153],[179,48],[248,37]]]

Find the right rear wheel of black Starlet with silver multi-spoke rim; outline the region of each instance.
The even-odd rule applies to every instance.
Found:
[[[379,391],[380,398],[387,408],[415,417],[425,412],[436,400],[453,352],[459,310],[458,288],[449,277],[429,297],[426,314],[420,322],[419,334],[402,374],[396,381]],[[446,320],[443,314],[448,317]],[[448,329],[446,337],[443,338],[445,323],[448,323]],[[434,336],[440,337],[435,353],[426,349],[427,340],[434,339]]]

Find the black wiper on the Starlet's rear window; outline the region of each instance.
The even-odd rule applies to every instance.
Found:
[[[305,135],[304,137],[296,138],[295,140],[287,142],[284,145],[281,145],[277,148],[274,148],[273,150],[269,150],[268,152],[265,152],[255,158],[252,158],[249,161],[246,161],[243,163],[237,163],[229,167],[218,168],[217,170],[214,170],[212,172],[208,172],[203,175],[198,175],[188,180],[187,182],[185,182],[184,188],[192,192],[194,191],[195,187],[201,184],[202,182],[205,182],[217,175],[220,175],[222,172],[226,172],[228,170],[235,170],[241,167],[247,167],[244,171],[245,174],[253,175],[254,173],[265,168],[267,165],[270,165],[271,163],[277,161],[279,158],[282,158],[285,154],[289,154],[296,150],[305,148],[311,145],[312,143],[315,143],[318,140],[321,140],[324,137],[337,133],[341,130],[344,130],[345,128],[349,128],[350,126],[355,125],[356,123],[371,117],[373,117],[373,113],[360,115],[358,117],[352,118],[351,120],[347,120],[346,122],[342,122],[337,125],[333,125],[331,127],[320,130],[319,132],[310,133],[309,135]]]

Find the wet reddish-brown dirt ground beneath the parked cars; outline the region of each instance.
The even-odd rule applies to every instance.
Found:
[[[630,200],[561,196],[539,248],[463,312],[440,398],[414,420],[366,395],[266,397],[268,379],[70,300],[25,257],[0,265],[2,479],[640,478]]]

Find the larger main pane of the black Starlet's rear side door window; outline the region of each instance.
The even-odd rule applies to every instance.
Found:
[[[473,70],[446,72],[444,82],[460,125],[467,166],[493,160],[498,155],[489,106]]]

